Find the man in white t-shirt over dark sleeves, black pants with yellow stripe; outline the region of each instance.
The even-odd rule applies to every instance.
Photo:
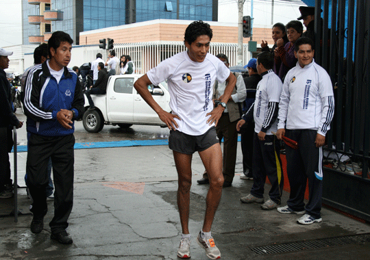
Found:
[[[277,110],[282,93],[282,81],[273,72],[273,54],[264,51],[258,55],[257,71],[262,76],[258,82],[256,101],[251,109],[238,122],[236,129],[251,118],[255,122],[253,138],[253,186],[251,192],[240,198],[242,203],[264,203],[264,183],[269,178],[271,189],[270,199],[261,205],[262,209],[275,209],[280,205],[284,186],[282,161],[280,159],[280,141],[276,140]]]

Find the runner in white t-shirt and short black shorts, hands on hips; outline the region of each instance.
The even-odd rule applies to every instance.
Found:
[[[208,23],[195,21],[185,31],[187,51],[178,53],[161,62],[156,68],[140,77],[134,87],[169,127],[169,148],[179,178],[177,205],[180,211],[182,239],[177,250],[180,258],[190,257],[190,233],[188,229],[191,159],[198,151],[210,179],[206,198],[204,225],[197,237],[198,244],[206,250],[210,259],[219,259],[221,253],[211,236],[211,226],[221,199],[223,174],[222,153],[215,126],[230,99],[236,83],[235,76],[214,55],[208,53],[212,29]],[[157,85],[167,79],[171,95],[171,113],[165,112],[151,96],[147,86]],[[212,86],[215,81],[227,81],[223,99],[217,107],[212,103]]]

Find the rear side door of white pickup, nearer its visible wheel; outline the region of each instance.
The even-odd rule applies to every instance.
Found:
[[[134,114],[134,77],[115,78],[107,96],[108,120],[132,122]]]

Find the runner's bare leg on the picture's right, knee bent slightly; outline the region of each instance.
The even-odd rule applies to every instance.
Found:
[[[210,232],[214,214],[221,200],[223,174],[222,174],[222,152],[220,144],[214,144],[205,151],[199,152],[201,161],[208,172],[210,189],[206,198],[206,215],[204,216],[203,231]]]

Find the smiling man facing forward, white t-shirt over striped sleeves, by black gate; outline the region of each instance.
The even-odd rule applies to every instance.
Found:
[[[286,146],[286,172],[291,194],[280,213],[304,214],[297,222],[322,221],[323,192],[322,147],[334,116],[334,94],[328,73],[314,62],[314,44],[310,38],[295,42],[297,65],[286,74],[279,105],[277,138],[285,135],[298,143],[298,149]],[[304,205],[308,179],[309,200]]]

